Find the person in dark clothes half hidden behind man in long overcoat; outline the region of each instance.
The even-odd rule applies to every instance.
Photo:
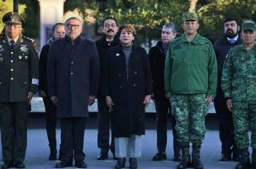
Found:
[[[44,100],[45,104],[45,114],[46,114],[46,132],[47,138],[49,141],[50,147],[50,156],[49,160],[56,160],[57,159],[57,141],[56,141],[56,106],[55,104],[50,101],[50,97],[48,96],[47,90],[47,60],[48,60],[48,53],[50,49],[50,45],[55,40],[59,40],[63,38],[65,35],[64,30],[64,23],[56,23],[53,26],[53,36],[50,40],[47,41],[47,44],[43,46],[40,52],[40,59],[39,59],[39,86],[38,92],[39,96],[41,96]],[[61,147],[61,144],[60,144]],[[61,159],[61,150],[59,148],[59,159]]]

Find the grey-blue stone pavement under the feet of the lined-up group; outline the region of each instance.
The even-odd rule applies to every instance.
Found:
[[[59,143],[60,131],[57,131]],[[151,159],[156,153],[156,132],[153,129],[147,129],[142,142],[142,157],[139,158],[140,169],[168,169],[176,168],[178,162],[171,161],[173,157],[172,136],[171,130],[168,131],[168,160],[163,162],[153,162]],[[86,154],[85,161],[88,163],[88,168],[92,169],[107,169],[113,168],[115,161],[107,159],[105,161],[97,161],[96,157],[99,153],[97,148],[97,129],[86,129],[84,139],[84,152]],[[2,151],[0,152],[2,159]],[[28,144],[26,151],[26,168],[28,169],[49,169],[54,168],[57,162],[47,161],[49,148],[46,138],[45,129],[29,129]],[[111,157],[111,153],[109,153]],[[232,169],[236,162],[218,162],[220,157],[220,141],[216,130],[208,130],[206,138],[202,145],[201,160],[205,165],[205,169]],[[128,162],[126,168],[129,167]],[[74,167],[67,167],[68,169]]]

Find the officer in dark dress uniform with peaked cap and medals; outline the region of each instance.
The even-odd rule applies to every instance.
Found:
[[[31,40],[21,35],[23,18],[2,16],[5,35],[0,36],[0,114],[2,169],[25,168],[28,109],[38,86],[38,57]]]

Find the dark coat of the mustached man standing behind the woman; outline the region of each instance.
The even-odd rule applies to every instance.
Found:
[[[104,73],[103,73],[103,68],[104,68],[104,58],[105,55],[107,54],[107,50],[110,49],[111,47],[117,46],[120,44],[120,40],[118,39],[118,36],[114,38],[112,41],[111,45],[107,44],[107,39],[106,35],[104,35],[100,40],[97,40],[95,42],[96,47],[97,47],[97,54],[100,59],[100,79],[98,83],[98,92],[97,92],[97,97],[98,98],[104,98],[102,96],[102,84],[103,84],[103,78],[104,78]]]

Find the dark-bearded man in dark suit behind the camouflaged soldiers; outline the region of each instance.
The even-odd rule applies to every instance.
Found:
[[[232,112],[227,109],[225,104],[225,96],[222,91],[220,81],[221,73],[226,55],[235,45],[242,43],[239,36],[239,24],[236,18],[227,17],[224,21],[225,36],[217,40],[213,45],[218,63],[218,86],[214,106],[216,115],[219,119],[220,142],[221,142],[221,158],[220,162],[228,162],[231,159],[238,161],[239,152],[235,145],[234,124]],[[233,155],[233,157],[232,157]]]

